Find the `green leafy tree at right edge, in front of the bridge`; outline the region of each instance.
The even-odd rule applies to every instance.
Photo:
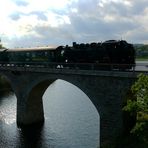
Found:
[[[148,76],[140,74],[131,91],[133,99],[127,101],[123,110],[131,115],[136,113],[136,124],[131,133],[148,145]]]

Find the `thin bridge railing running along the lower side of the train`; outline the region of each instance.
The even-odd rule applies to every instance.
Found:
[[[148,71],[148,63],[137,64],[108,64],[108,63],[37,63],[37,62],[0,62],[1,69],[9,67],[50,68],[50,69],[79,69],[79,70],[112,70],[112,71]]]

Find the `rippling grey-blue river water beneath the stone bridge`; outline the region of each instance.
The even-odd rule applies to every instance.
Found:
[[[97,148],[99,114],[89,98],[72,84],[57,80],[43,96],[42,128],[16,125],[16,97],[0,98],[0,148]]]

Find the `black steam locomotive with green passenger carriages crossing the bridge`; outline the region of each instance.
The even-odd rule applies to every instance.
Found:
[[[54,68],[131,69],[135,65],[133,44],[125,40],[76,43],[72,46],[0,49],[0,64],[54,66]]]

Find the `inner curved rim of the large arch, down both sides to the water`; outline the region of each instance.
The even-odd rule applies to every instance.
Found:
[[[30,120],[31,122],[34,122],[34,123],[37,123],[38,121],[39,124],[44,121],[44,107],[43,107],[42,97],[45,91],[47,90],[47,88],[56,80],[57,79],[50,79],[48,77],[44,77],[42,80],[40,80],[40,82],[34,83],[32,88],[30,89],[30,93],[27,98],[27,110],[28,110],[27,120]],[[92,100],[89,98],[88,94],[84,91],[84,89],[81,88],[81,85],[76,85],[77,83],[73,83],[72,81],[64,79],[64,78],[60,78],[60,80],[63,80],[66,83],[70,83],[71,85],[79,89],[82,93],[84,93],[88,97],[91,104],[96,109],[98,113],[98,117],[99,117],[99,123],[98,123],[98,126],[99,126],[98,145],[99,145],[100,144],[100,114],[96,106],[94,105]],[[34,119],[34,121],[32,119]]]

